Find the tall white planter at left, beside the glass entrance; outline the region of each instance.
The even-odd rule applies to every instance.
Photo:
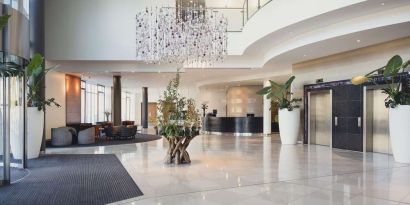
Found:
[[[23,119],[22,112],[20,118]],[[18,122],[18,121],[17,121]],[[11,152],[15,159],[23,158],[23,136],[20,134],[23,129],[23,123],[20,127],[13,127],[10,130]],[[43,139],[44,113],[38,111],[37,107],[27,108],[27,159],[37,158],[40,154],[41,141]],[[14,130],[14,131],[13,131]]]

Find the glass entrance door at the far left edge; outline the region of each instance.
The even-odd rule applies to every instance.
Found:
[[[0,186],[24,177],[25,168],[25,77],[27,61],[13,55],[0,54]],[[15,77],[17,75],[17,77]]]

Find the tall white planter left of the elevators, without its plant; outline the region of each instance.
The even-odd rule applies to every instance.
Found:
[[[296,144],[300,129],[300,109],[279,109],[279,132],[282,144]]]

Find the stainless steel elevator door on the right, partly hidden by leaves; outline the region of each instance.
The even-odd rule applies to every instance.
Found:
[[[391,154],[389,140],[389,110],[384,105],[387,95],[380,89],[366,91],[366,150]]]

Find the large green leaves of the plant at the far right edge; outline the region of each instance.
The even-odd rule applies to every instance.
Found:
[[[388,97],[385,99],[386,108],[395,108],[398,105],[410,105],[410,91],[402,90],[400,83],[402,82],[400,72],[406,72],[408,70],[410,61],[403,62],[403,59],[399,55],[395,55],[387,62],[387,64],[381,68],[373,70],[372,72],[366,74],[364,77],[373,80],[373,74],[382,71],[383,76],[387,79],[387,88],[383,88],[383,93],[387,94]],[[364,83],[364,82],[360,82]]]

